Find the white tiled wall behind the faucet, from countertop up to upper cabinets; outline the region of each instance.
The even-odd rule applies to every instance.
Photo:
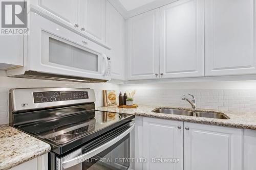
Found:
[[[191,106],[182,95],[194,94],[197,108],[256,112],[256,81],[158,83],[122,85],[122,91],[137,89],[135,103],[154,106]],[[187,95],[190,98],[189,95]]]

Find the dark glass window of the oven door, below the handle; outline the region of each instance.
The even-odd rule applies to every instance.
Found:
[[[82,170],[126,170],[130,166],[130,137],[127,135],[103,152],[82,162]]]

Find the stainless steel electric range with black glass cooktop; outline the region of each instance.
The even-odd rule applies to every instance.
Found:
[[[94,102],[93,89],[12,89],[10,125],[51,145],[49,170],[128,169],[135,116]]]

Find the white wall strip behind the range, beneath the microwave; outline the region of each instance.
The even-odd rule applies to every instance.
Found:
[[[116,90],[116,93],[119,92],[119,85],[113,83],[76,83],[51,80],[8,78],[6,77],[5,71],[0,70],[0,124],[9,123],[9,89],[35,87],[92,88],[95,90],[96,107],[103,106],[102,90],[113,89]]]

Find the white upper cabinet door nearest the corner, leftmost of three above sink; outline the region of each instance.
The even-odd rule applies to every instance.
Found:
[[[127,79],[159,78],[159,9],[127,20]]]

